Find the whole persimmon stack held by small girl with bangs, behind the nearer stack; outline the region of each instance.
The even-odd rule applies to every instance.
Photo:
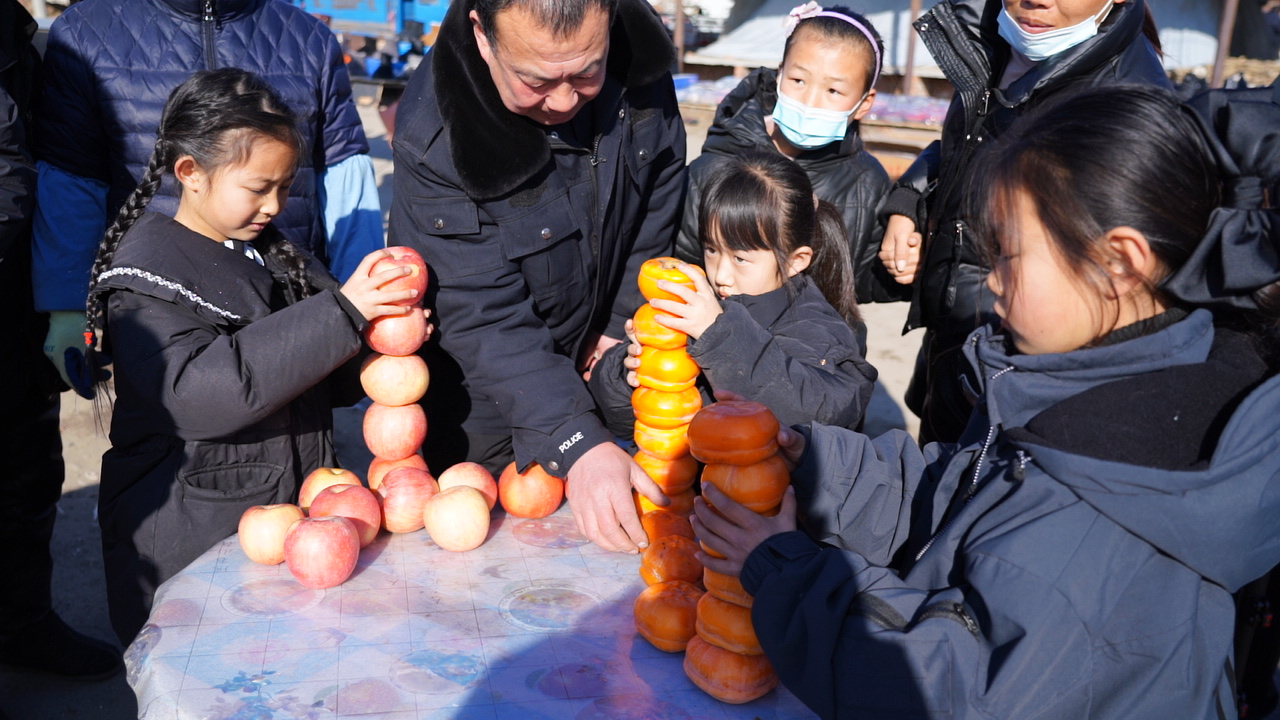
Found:
[[[682,300],[658,288],[658,281],[692,287],[675,258],[655,258],[640,266],[640,292],[645,300]],[[636,630],[654,647],[682,652],[694,637],[698,601],[703,597],[703,566],[694,556],[698,544],[689,515],[694,511],[694,480],[698,461],[689,455],[689,421],[703,406],[694,387],[700,369],[685,346],[689,336],[658,322],[672,315],[644,304],[632,318],[632,333],[640,343],[640,387],[631,393],[636,415],[635,460],[671,500],[658,507],[636,495],[636,509],[649,537],[640,560],[640,577],[649,584],[636,598]]]

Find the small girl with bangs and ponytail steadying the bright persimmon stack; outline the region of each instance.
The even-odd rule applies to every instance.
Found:
[[[818,201],[805,172],[776,152],[748,151],[703,188],[707,277],[695,288],[662,281],[682,302],[654,299],[658,323],[689,334],[705,400],[730,391],[764,402],[785,423],[858,427],[876,383],[867,327],[852,292],[840,213]],[[627,322],[631,333],[631,320]],[[591,392],[618,436],[630,437],[636,342],[605,352]]]

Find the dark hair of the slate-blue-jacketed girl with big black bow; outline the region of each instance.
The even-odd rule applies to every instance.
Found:
[[[1161,283],[1193,258],[1224,192],[1204,135],[1170,92],[1134,86],[1065,96],[1016,120],[979,156],[973,177],[970,217],[988,263],[998,255],[1001,237],[1016,236],[1011,222],[1021,196],[1060,258],[1100,292],[1110,291],[1102,286],[1111,278],[1101,241],[1112,228],[1132,227],[1160,261],[1148,290],[1166,306],[1194,305]],[[1215,305],[1216,322],[1249,328],[1263,355],[1274,359],[1280,284],[1253,292],[1248,305]]]

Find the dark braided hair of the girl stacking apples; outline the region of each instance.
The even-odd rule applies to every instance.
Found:
[[[124,201],[97,247],[84,310],[90,345],[95,329],[102,324],[104,309],[96,292],[99,277],[111,266],[120,238],[142,217],[164,174],[172,173],[174,163],[186,155],[206,173],[243,163],[262,137],[283,142],[293,147],[297,156],[302,155],[302,136],[293,111],[253,73],[238,68],[201,70],[169,94],[142,182]],[[288,242],[274,224],[268,225],[255,245],[271,273],[283,282],[289,302],[311,293],[306,254]]]

